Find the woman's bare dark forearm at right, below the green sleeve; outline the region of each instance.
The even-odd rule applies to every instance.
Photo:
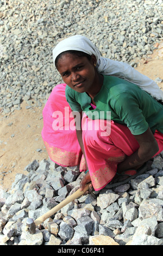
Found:
[[[140,147],[134,154],[127,156],[122,163],[118,164],[117,173],[130,168],[139,168],[159,151],[158,143],[149,127],[146,132],[141,135],[134,135],[134,137]]]

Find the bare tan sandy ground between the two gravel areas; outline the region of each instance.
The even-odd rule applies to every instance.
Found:
[[[163,43],[136,68],[142,74],[155,80],[162,79],[158,85],[163,90]],[[24,168],[33,160],[48,159],[41,138],[43,127],[42,109],[26,109],[23,102],[21,110],[8,116],[0,115],[0,188],[10,190],[17,173],[27,174]],[[9,124],[12,125],[10,126]],[[37,149],[42,151],[37,152]]]

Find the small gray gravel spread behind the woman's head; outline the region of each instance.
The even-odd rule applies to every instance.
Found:
[[[0,1],[0,109],[42,106],[60,76],[52,50],[67,36],[92,40],[103,57],[136,67],[162,40],[161,0]]]

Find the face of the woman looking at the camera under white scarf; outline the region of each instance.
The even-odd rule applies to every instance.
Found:
[[[67,86],[79,93],[89,93],[96,82],[95,64],[96,57],[93,55],[89,60],[86,57],[66,53],[58,60],[57,69]]]

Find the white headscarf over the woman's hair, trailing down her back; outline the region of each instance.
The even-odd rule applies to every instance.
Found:
[[[163,92],[153,80],[139,71],[132,68],[129,64],[117,62],[108,58],[101,57],[97,47],[83,35],[70,36],[59,42],[53,49],[53,62],[61,52],[68,50],[82,51],[89,55],[95,54],[97,59],[97,70],[103,75],[114,75],[131,83],[137,84],[141,89],[155,97],[156,100],[163,101]]]

